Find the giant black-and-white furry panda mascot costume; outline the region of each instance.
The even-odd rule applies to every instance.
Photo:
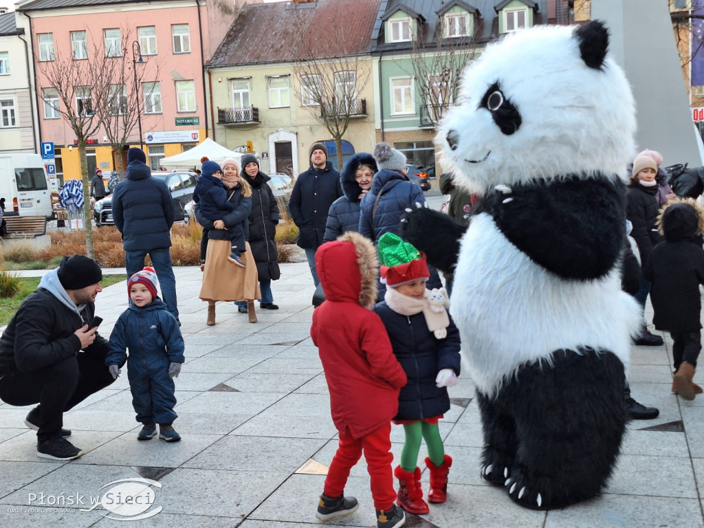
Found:
[[[404,237],[454,272],[482,478],[527,508],[597,496],[627,422],[641,315],[620,289],[620,257],[636,120],[607,48],[598,21],[487,46],[436,138],[455,183],[480,196],[470,226],[427,208],[403,218]]]

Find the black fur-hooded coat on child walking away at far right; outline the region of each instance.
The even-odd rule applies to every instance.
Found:
[[[698,214],[689,204],[677,203],[663,217],[665,241],[643,266],[651,283],[653,324],[669,332],[696,330],[702,327],[699,284],[704,284],[704,249],[695,241]]]

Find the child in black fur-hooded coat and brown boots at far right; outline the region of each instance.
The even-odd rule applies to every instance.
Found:
[[[662,208],[658,224],[665,241],[653,248],[643,275],[652,283],[653,324],[672,336],[672,391],[693,400],[702,392],[692,379],[701,351],[699,284],[704,284],[704,249],[698,236],[704,228],[704,210],[692,199],[677,199]]]

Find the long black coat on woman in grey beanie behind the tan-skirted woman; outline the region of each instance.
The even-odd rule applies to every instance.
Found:
[[[270,177],[257,172],[254,178],[243,172],[252,186],[252,212],[249,215],[249,246],[257,263],[259,280],[278,280],[281,277],[274,237],[279,223],[279,204],[267,183]]]

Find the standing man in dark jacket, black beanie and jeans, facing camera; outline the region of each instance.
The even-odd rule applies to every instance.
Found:
[[[343,196],[340,173],[327,161],[327,147],[324,143],[314,143],[308,151],[310,168],[301,172],[296,179],[289,198],[291,218],[298,226],[298,247],[306,250],[310,275],[318,286],[315,272],[315,251],[325,236],[327,212],[332,202]]]

